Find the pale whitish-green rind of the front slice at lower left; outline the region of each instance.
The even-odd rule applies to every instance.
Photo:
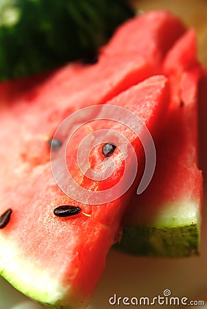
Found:
[[[14,288],[21,290],[27,297],[37,301],[45,308],[62,308],[60,299],[66,294],[66,288],[61,286],[58,280],[48,277],[47,272],[29,264],[29,261],[16,257],[14,253],[18,252],[18,250],[14,250],[15,246],[12,242],[9,240],[5,241],[1,236],[0,242],[0,265],[4,265],[0,275],[10,282]],[[7,264],[9,264],[9,267],[6,267]],[[33,280],[29,279],[29,277],[32,277]],[[35,285],[32,286],[32,282],[36,282],[34,277],[40,283],[38,288]],[[44,293],[42,292],[43,290],[45,291]]]

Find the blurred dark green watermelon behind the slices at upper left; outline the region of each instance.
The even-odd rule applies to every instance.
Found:
[[[1,0],[0,80],[95,53],[134,14],[127,0]]]

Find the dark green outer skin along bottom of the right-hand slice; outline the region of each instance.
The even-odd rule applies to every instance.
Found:
[[[136,227],[123,229],[119,251],[140,256],[159,258],[186,258],[198,255],[199,227]]]

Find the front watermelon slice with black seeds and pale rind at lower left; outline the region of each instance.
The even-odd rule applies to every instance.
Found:
[[[128,89],[107,104],[127,107],[141,117],[149,130],[154,130],[168,100],[167,79],[156,76]],[[8,207],[12,208],[10,222],[0,233],[0,260],[3,266],[1,274],[16,288],[45,306],[84,308],[103,271],[106,254],[114,242],[132,190],[106,205],[84,205],[63,194],[53,179],[49,162],[32,166],[25,161],[19,165],[27,113],[24,114],[23,122],[23,115],[18,117],[16,106],[13,109],[11,103],[3,102],[5,106],[10,106],[11,129],[14,134],[18,132],[18,138],[7,140],[8,126],[5,124],[8,115],[5,118],[1,116],[1,140],[10,143],[10,148],[1,150],[1,158],[10,157],[6,161],[7,168],[1,168],[1,212]],[[7,109],[4,108],[4,114]],[[44,121],[41,118],[38,118],[39,123]],[[28,114],[27,120],[29,119],[31,117]],[[35,120],[31,122],[31,126],[34,123]],[[97,128],[95,124],[95,129]],[[103,128],[102,123],[99,128]],[[121,134],[125,132],[121,125],[115,124],[113,127],[110,123],[110,129],[112,128]],[[80,136],[77,133],[76,137],[84,138],[86,133],[93,130],[93,122],[86,124],[80,131]],[[137,137],[127,137],[134,148],[139,145]],[[75,143],[72,143],[73,152],[67,156],[71,170],[76,158],[77,141],[75,139]],[[11,150],[11,155],[8,149]],[[99,150],[100,147],[96,151]],[[141,155],[137,155],[141,159]],[[123,162],[119,153],[116,155],[114,152],[113,158],[119,174],[123,169]],[[100,156],[99,165],[101,160],[103,157]],[[2,181],[3,177],[6,181]],[[77,183],[82,184],[84,177],[77,174]],[[86,188],[91,189],[87,179],[84,180]],[[79,205],[90,216],[81,213],[74,218],[57,218],[53,215],[53,209],[59,205]]]

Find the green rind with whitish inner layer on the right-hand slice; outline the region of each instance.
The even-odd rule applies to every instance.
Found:
[[[121,242],[114,247],[132,255],[159,258],[198,255],[201,226],[199,205],[182,201],[179,205],[169,203],[162,209],[156,212],[151,222],[148,219],[147,223],[147,218],[142,218],[143,222],[138,225],[125,226]]]

